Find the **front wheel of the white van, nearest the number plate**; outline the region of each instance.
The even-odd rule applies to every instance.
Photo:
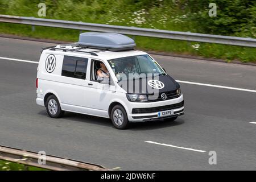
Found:
[[[111,111],[111,120],[114,125],[119,130],[126,129],[129,125],[127,114],[125,108],[121,105],[115,105]]]

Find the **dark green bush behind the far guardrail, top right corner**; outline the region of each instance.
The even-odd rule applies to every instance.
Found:
[[[215,0],[217,16],[209,17],[209,1],[188,1],[191,20],[201,33],[256,37],[256,1]]]

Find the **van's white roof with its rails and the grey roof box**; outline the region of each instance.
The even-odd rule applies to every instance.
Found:
[[[110,60],[119,57],[144,55],[145,52],[136,51],[133,39],[113,32],[85,32],[79,35],[79,42],[43,48],[49,51],[72,52],[68,55],[86,54],[99,56]]]

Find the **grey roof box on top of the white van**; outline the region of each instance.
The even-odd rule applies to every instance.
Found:
[[[109,51],[124,51],[133,49],[136,44],[133,39],[116,33],[85,32],[79,36],[79,45],[89,48],[108,49]]]

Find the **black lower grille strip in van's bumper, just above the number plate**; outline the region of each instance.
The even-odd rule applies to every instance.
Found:
[[[180,108],[183,106],[184,106],[184,101],[177,103],[177,104],[171,104],[171,105],[159,106],[159,107],[133,108],[131,113],[132,114],[156,113],[156,112],[164,111],[164,110],[177,109],[177,108]]]

